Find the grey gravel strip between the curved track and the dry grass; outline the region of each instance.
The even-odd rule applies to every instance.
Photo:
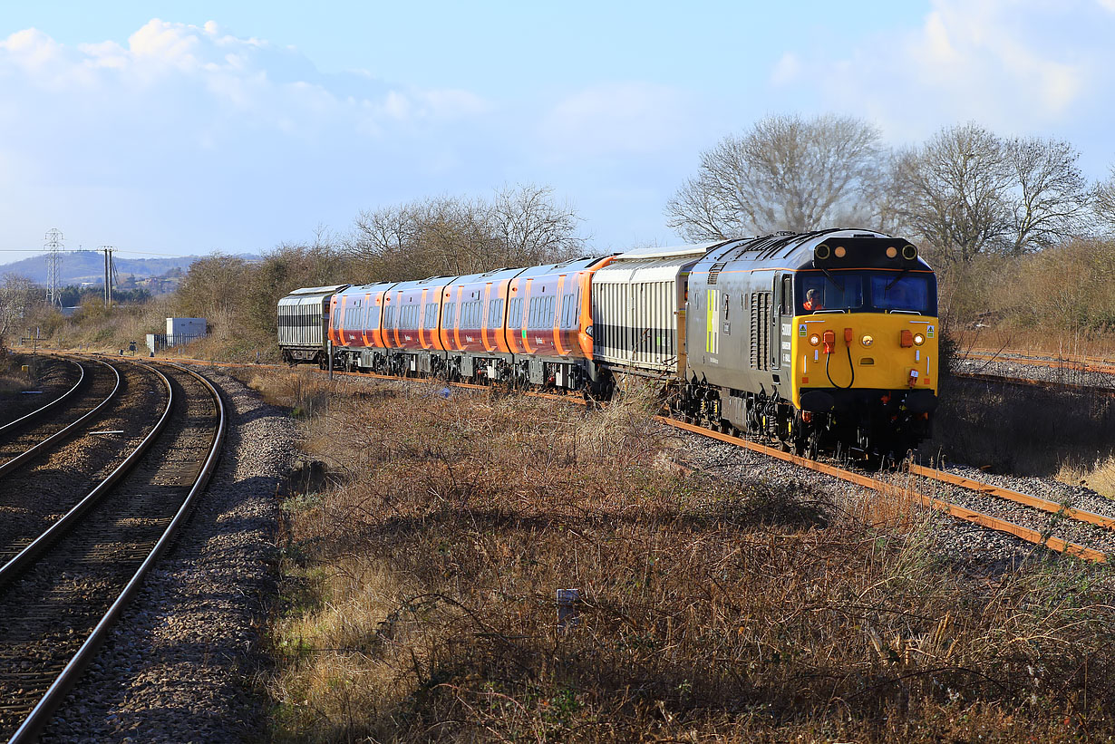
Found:
[[[280,480],[295,427],[236,379],[206,370],[230,422],[217,472],[175,548],[148,574],[43,741],[260,738],[254,679],[269,596]]]

